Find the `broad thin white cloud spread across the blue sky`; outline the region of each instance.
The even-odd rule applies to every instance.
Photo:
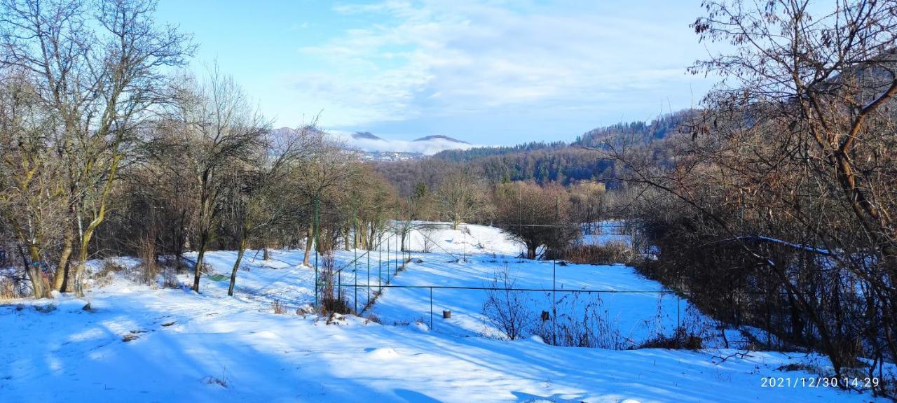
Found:
[[[321,68],[292,76],[293,88],[317,100],[325,124],[363,126],[496,108],[597,106],[686,80],[694,57],[675,44],[694,47],[693,36],[598,9],[514,4],[337,6],[377,22],[300,48]]]

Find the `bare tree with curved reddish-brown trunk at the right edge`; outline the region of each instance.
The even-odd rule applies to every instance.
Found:
[[[753,141],[749,144],[756,144],[754,157],[740,159],[762,175],[753,176],[755,185],[773,184],[757,188],[762,189],[760,199],[814,228],[812,236],[792,244],[842,251],[831,254],[837,266],[847,270],[839,280],[845,287],[833,290],[840,301],[858,297],[856,288],[847,284],[860,280],[875,290],[863,304],[883,311],[864,319],[859,318],[868,311],[857,311],[856,321],[875,324],[867,328],[849,323],[854,329],[845,332],[819,323],[828,321],[809,308],[814,301],[795,298],[817,323],[836,372],[859,353],[847,347],[847,340],[881,329],[890,356],[897,356],[893,303],[884,302],[897,297],[897,195],[892,192],[897,184],[892,109],[897,96],[897,4],[842,2],[821,13],[808,1],[705,5],[708,15],[693,25],[701,39],[736,48],[693,68],[727,77],[707,99],[716,115],[712,118],[750,111],[762,124],[754,124],[747,135],[775,136],[778,148]],[[710,121],[702,128],[725,140],[745,136],[737,127],[747,127],[745,122],[727,121],[736,122],[735,130],[717,130]],[[799,182],[774,185],[774,176],[788,173]],[[813,196],[807,199],[806,194]],[[877,251],[873,259],[859,259],[868,251]],[[832,319],[840,322],[839,316]],[[878,345],[876,339],[868,342]]]

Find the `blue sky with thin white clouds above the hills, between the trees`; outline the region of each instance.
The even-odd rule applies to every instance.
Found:
[[[696,106],[699,0],[161,0],[275,126],[475,144],[572,140]]]

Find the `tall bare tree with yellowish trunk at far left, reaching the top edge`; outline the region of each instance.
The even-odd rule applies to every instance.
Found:
[[[78,235],[73,284],[82,294],[91,237],[106,218],[118,167],[161,100],[163,67],[182,64],[192,48],[177,30],[155,25],[152,0],[4,0],[0,10],[0,66],[26,72],[58,119],[68,225]]]

